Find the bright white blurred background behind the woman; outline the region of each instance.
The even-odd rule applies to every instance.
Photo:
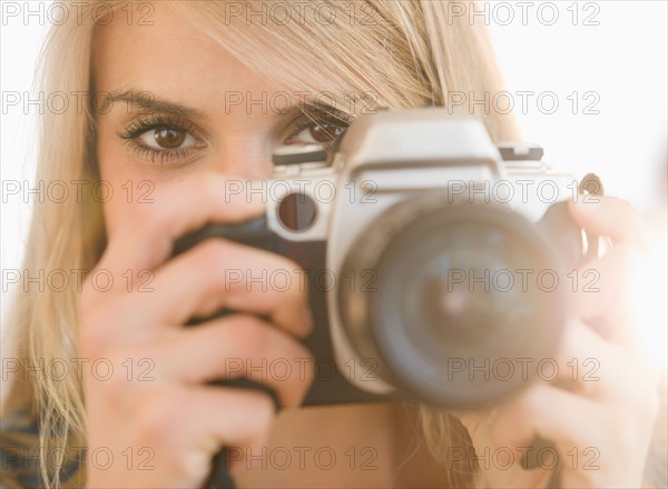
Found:
[[[30,3],[31,9],[37,8],[37,2]],[[666,222],[661,212],[666,207],[667,3],[557,1],[541,7],[546,2],[524,2],[529,3],[525,22],[520,3],[484,2],[487,14],[473,21],[489,20],[509,92],[537,94],[527,104],[528,113],[518,113],[525,140],[540,142],[560,168],[578,176],[597,172],[607,193],[628,199],[651,223],[655,256],[651,269],[642,275],[650,287],[638,300],[648,343],[666,361]],[[469,16],[469,2],[461,6]],[[559,17],[552,23],[554,10]],[[573,11],[578,12],[577,19]],[[510,21],[509,13],[513,16]],[[598,24],[586,24],[592,22]],[[2,19],[3,92],[30,90],[36,57],[48,27],[48,22],[42,23],[39,17],[30,18],[27,24]],[[552,114],[544,113],[550,104],[537,104],[538,94],[548,91],[556,93],[560,103]],[[572,92],[578,92],[580,99],[576,114],[567,99]],[[586,92],[598,94],[598,103],[590,109],[599,114],[583,113],[592,100],[583,99]],[[517,110],[521,109],[519,101]],[[20,110],[8,109],[1,123],[2,180],[30,179],[33,121]],[[2,206],[4,270],[20,268],[28,219],[29,209],[18,199]],[[6,302],[3,283],[3,316]]]

